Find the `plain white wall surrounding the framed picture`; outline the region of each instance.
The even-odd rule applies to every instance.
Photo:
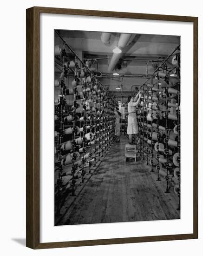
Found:
[[[93,246],[70,249],[48,249],[34,251],[25,247],[25,180],[26,180],[26,8],[32,6],[98,9],[123,12],[159,13],[199,16],[199,46],[203,45],[203,14],[201,1],[170,0],[164,4],[157,1],[131,1],[125,4],[118,0],[65,1],[27,0],[3,1],[1,3],[1,254],[6,255],[202,255],[203,250],[203,186],[199,189],[199,239],[187,241]],[[199,71],[203,68],[203,49],[199,47]],[[199,72],[200,73],[200,72]],[[201,85],[203,74],[199,74]],[[199,96],[203,88],[199,87]],[[3,101],[2,101],[3,100]],[[192,100],[191,100],[192,102]],[[203,101],[199,101],[203,109]],[[3,115],[3,116],[2,116]],[[203,130],[203,118],[199,115],[199,130]],[[15,141],[9,138],[15,137]],[[2,140],[3,139],[3,140]],[[203,155],[203,140],[199,134],[199,155]],[[14,149],[14,150],[11,150]],[[14,152],[11,154],[11,152]],[[203,181],[202,159],[199,161],[199,183]]]

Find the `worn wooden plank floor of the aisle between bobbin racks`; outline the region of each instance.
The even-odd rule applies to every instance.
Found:
[[[115,143],[58,225],[179,219],[178,197],[145,161],[125,162],[124,137]]]

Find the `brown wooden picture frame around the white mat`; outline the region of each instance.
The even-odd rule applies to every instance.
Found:
[[[194,191],[193,233],[164,236],[143,236],[85,241],[40,243],[39,239],[39,14],[71,14],[145,20],[166,20],[193,23],[194,39]],[[121,13],[51,7],[32,7],[26,10],[26,246],[32,249],[73,246],[140,243],[194,239],[198,237],[198,18],[144,13]]]

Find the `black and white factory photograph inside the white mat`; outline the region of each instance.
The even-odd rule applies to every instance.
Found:
[[[54,30],[55,226],[181,218],[180,53],[177,35]]]

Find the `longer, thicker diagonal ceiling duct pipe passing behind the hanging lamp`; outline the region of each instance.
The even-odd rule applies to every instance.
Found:
[[[124,47],[126,47],[129,39],[131,38],[131,34],[121,34],[118,40],[118,47],[121,48],[123,51]],[[120,54],[113,53],[111,57],[111,61],[108,66],[108,71],[111,72],[114,67],[116,66],[117,62],[119,61],[120,57],[122,56],[122,52]]]

